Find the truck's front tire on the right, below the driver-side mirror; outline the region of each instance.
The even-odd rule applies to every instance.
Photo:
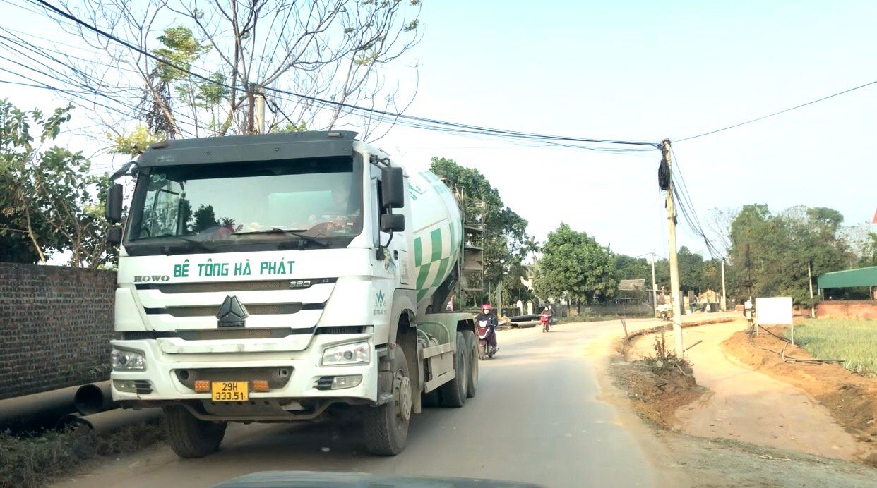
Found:
[[[393,400],[380,407],[367,407],[363,422],[366,449],[375,456],[396,456],[405,447],[411,421],[411,380],[402,348],[396,348],[391,365]]]

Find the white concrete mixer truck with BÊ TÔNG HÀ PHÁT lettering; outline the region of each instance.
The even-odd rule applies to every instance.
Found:
[[[351,131],[166,141],[125,174],[112,397],[162,407],[177,455],[227,422],[352,415],[393,456],[424,403],[475,395],[473,316],[446,312],[466,238],[435,174]]]

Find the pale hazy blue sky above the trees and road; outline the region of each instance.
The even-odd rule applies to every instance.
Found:
[[[52,32],[46,20],[12,5],[24,0],[9,1],[0,2],[8,25]],[[877,80],[874,18],[877,3],[852,0],[424,0],[424,38],[394,69],[410,74],[404,70],[417,62],[410,115],[659,143]],[[0,83],[3,97],[25,109],[63,103]],[[877,161],[867,145],[877,133],[875,102],[877,85],[674,143],[674,170],[704,225],[709,209],[750,203],[831,207],[845,223],[870,222],[877,206]],[[478,168],[539,241],[564,222],[612,251],[667,256],[658,152],[518,147],[405,127],[377,145],[410,169],[425,169],[432,157]],[[684,224],[678,243],[706,254]]]

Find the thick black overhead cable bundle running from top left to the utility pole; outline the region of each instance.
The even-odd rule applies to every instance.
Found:
[[[140,48],[139,46],[135,46],[132,43],[125,41],[125,39],[120,39],[117,36],[111,34],[110,32],[105,32],[102,29],[96,27],[95,25],[90,25],[89,23],[81,20],[80,18],[76,18],[74,15],[70,14],[69,12],[62,11],[61,9],[55,7],[53,4],[49,4],[48,2],[46,2],[46,0],[30,0],[30,1],[32,4],[39,4],[40,6],[42,6],[43,8],[45,8],[47,10],[53,11],[54,13],[60,15],[63,18],[67,18],[68,20],[75,22],[77,25],[82,25],[82,27],[88,29],[91,32],[95,32],[96,34],[98,34],[100,36],[103,36],[107,39],[111,39],[122,46],[125,46],[129,49],[132,49],[132,51],[135,51],[137,53],[141,53],[141,54],[147,56],[148,58],[155,60],[156,62],[167,65],[168,67],[173,67],[173,68],[181,71],[182,73],[189,74],[189,75],[191,75],[191,76],[193,76],[201,81],[208,81],[208,82],[213,83],[213,84],[218,84],[220,86],[223,86],[224,88],[232,88],[231,85],[217,83],[215,80],[210,79],[208,76],[205,76],[203,74],[193,73],[192,71],[190,71],[186,67],[177,66],[174,63],[172,63],[168,60],[164,60],[164,59],[160,58],[159,56],[156,56],[153,53],[149,53],[148,51]],[[521,140],[538,141],[538,142],[541,142],[543,144],[548,144],[548,145],[569,145],[570,147],[578,147],[578,148],[589,149],[589,150],[594,150],[594,151],[612,151],[612,152],[652,151],[652,150],[658,149],[660,147],[659,145],[656,145],[655,143],[645,142],[645,141],[629,141],[629,140],[615,140],[615,139],[601,139],[601,138],[578,138],[578,137],[571,137],[571,136],[557,136],[557,135],[552,135],[552,134],[539,134],[539,133],[535,133],[535,132],[509,131],[509,130],[503,130],[503,129],[483,127],[483,126],[479,126],[479,125],[461,124],[461,123],[448,122],[448,121],[433,119],[433,118],[428,118],[428,117],[417,117],[417,116],[410,116],[410,115],[405,115],[405,114],[400,114],[400,113],[394,113],[394,112],[389,112],[387,110],[370,109],[367,107],[360,107],[358,105],[353,105],[353,104],[349,104],[349,103],[335,102],[333,100],[326,100],[323,98],[318,98],[316,96],[297,94],[295,92],[282,90],[279,88],[264,87],[263,89],[266,92],[270,91],[270,92],[273,92],[275,94],[294,96],[300,100],[306,100],[306,101],[309,101],[311,103],[315,103],[318,106],[323,107],[323,108],[326,108],[326,107],[333,107],[335,109],[342,108],[342,109],[351,110],[353,112],[359,112],[359,113],[363,113],[363,114],[379,115],[381,117],[392,117],[392,118],[396,119],[397,122],[404,121],[405,125],[408,125],[410,127],[419,128],[419,129],[426,129],[426,130],[431,130],[431,131],[449,131],[449,132],[456,132],[456,133],[469,133],[469,134],[487,135],[487,136],[496,137],[496,138],[517,138],[517,139],[521,139]],[[648,146],[648,147],[645,147],[644,149],[635,149],[635,148],[609,149],[609,148],[594,147],[594,146],[582,146],[581,145],[582,143],[584,143],[584,144],[600,144],[600,145],[633,145],[633,146]]]

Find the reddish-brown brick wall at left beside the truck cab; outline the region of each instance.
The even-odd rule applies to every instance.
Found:
[[[0,399],[106,379],[116,273],[0,263]]]

